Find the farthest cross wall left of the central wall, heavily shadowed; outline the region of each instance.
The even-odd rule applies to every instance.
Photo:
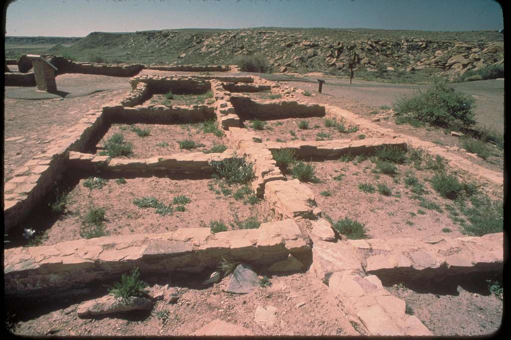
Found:
[[[131,78],[129,82],[133,90],[138,83],[146,83],[150,94],[164,94],[169,91],[173,94],[202,94],[211,89],[210,82],[190,76],[144,74]]]

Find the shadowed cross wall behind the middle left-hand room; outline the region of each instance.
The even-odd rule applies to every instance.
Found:
[[[149,107],[124,108],[117,106],[106,112],[110,123],[190,123],[215,118],[215,107],[207,105],[172,106],[154,105]]]

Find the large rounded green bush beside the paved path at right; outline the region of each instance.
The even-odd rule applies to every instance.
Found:
[[[474,103],[473,97],[436,82],[426,92],[419,91],[413,97],[399,100],[395,108],[399,115],[432,125],[470,127],[476,122]]]

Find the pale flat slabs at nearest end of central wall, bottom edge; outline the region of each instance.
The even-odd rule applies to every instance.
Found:
[[[336,272],[330,278],[329,291],[369,335],[433,335],[415,316],[406,315],[405,302],[387,292],[374,275]]]

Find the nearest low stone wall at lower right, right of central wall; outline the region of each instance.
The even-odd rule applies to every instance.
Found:
[[[364,265],[367,273],[392,284],[502,271],[503,241],[502,232],[498,232],[455,239],[368,239],[352,245],[370,253]]]

